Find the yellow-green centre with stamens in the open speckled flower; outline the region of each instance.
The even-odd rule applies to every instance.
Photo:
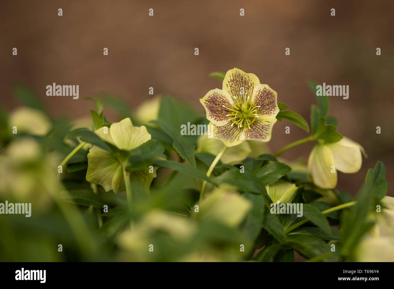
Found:
[[[249,127],[258,118],[258,114],[256,114],[258,107],[260,106],[256,106],[250,101],[234,103],[230,109],[230,114],[227,115],[231,117],[231,126],[235,124],[240,128]]]

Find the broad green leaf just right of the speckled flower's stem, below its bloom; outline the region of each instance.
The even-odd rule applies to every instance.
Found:
[[[218,177],[214,178],[218,184],[230,184],[238,187],[241,191],[249,191],[257,194],[264,194],[266,188],[262,185],[252,173],[245,171],[241,173],[239,169],[225,171]]]

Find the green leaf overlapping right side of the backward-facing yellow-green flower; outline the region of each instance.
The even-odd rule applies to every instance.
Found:
[[[126,171],[146,169],[163,153],[164,147],[158,140],[147,140],[135,149],[130,150]]]

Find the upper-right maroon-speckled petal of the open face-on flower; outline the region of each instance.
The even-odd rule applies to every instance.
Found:
[[[257,114],[275,117],[279,112],[277,93],[266,84],[259,84],[253,90],[252,103],[258,108]]]

